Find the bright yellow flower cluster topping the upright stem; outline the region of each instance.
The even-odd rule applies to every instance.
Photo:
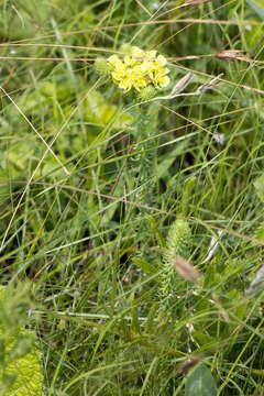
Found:
[[[163,55],[156,56],[156,51],[144,52],[132,46],[131,53],[123,59],[112,55],[108,63],[113,82],[127,91],[131,88],[140,91],[148,85],[160,89],[169,84],[169,69],[165,67],[167,59]]]

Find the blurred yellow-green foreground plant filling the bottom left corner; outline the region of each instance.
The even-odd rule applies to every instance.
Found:
[[[0,395],[41,395],[43,367],[35,333],[29,330],[29,284],[0,287]],[[28,329],[26,329],[28,328]]]

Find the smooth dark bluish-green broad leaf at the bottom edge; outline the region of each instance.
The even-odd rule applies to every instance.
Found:
[[[188,376],[185,396],[217,396],[217,385],[209,369],[199,364]]]

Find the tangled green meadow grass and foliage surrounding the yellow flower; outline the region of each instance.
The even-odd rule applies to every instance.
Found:
[[[264,244],[264,8],[183,3],[0,4],[0,274],[31,283],[48,396],[190,396],[197,355],[219,395],[263,395],[263,288],[244,292]],[[161,95],[188,72],[186,92],[221,84],[140,103],[94,68],[124,43],[168,58]],[[177,217],[202,276],[164,296]]]

